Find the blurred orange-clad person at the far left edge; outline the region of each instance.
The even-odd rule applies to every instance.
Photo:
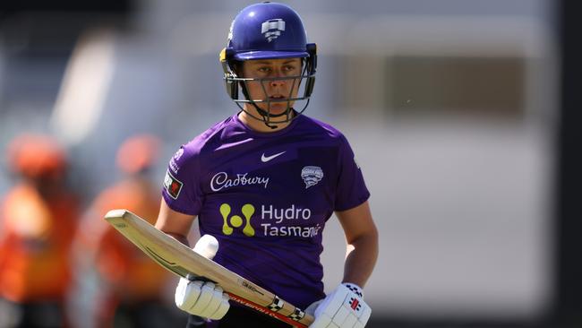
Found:
[[[67,327],[79,199],[65,187],[64,149],[22,134],[6,159],[20,180],[0,203],[0,326]]]

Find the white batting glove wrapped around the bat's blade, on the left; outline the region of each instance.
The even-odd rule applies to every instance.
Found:
[[[208,235],[201,237],[194,246],[194,252],[211,260],[218,250],[218,242],[214,239],[209,246],[210,238]],[[175,288],[175,306],[191,315],[209,319],[218,320],[227,314],[230,308],[228,299],[227,293],[210,281],[190,281],[180,278]]]

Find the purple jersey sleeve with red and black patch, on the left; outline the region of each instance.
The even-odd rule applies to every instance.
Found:
[[[203,194],[200,186],[200,155],[183,145],[167,165],[162,196],[174,211],[198,215]]]

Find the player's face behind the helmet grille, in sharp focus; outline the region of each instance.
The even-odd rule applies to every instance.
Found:
[[[267,81],[247,82],[249,96],[253,100],[270,100],[268,102],[256,103],[259,108],[269,111],[272,115],[285,113],[287,107],[292,108],[295,101],[288,98],[295,98],[299,90],[301,79],[302,63],[300,58],[286,59],[258,59],[245,61],[243,65],[243,76],[245,78],[285,78]]]

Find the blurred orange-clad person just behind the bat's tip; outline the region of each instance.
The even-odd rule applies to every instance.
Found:
[[[159,147],[160,142],[152,135],[127,139],[116,156],[124,179],[98,194],[84,218],[81,243],[93,253],[93,265],[103,287],[97,301],[98,327],[185,325],[185,316],[167,300],[168,281],[174,277],[103,219],[107,211],[127,209],[155,222],[161,186],[152,184],[148,174]],[[173,282],[169,281],[170,285]]]

